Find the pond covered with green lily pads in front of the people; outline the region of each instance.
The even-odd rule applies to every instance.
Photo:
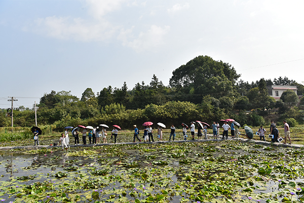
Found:
[[[239,141],[0,152],[3,202],[303,202],[304,150]]]

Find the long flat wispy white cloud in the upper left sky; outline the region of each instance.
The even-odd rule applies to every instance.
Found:
[[[115,32],[115,27],[107,21],[89,23],[82,18],[56,16],[37,19],[32,29],[49,37],[77,41],[103,41]]]

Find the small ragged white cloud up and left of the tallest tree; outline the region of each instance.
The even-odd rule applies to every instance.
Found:
[[[132,35],[133,28],[134,27],[127,30],[122,29],[118,39],[123,42],[123,46],[131,47],[137,52],[164,44],[164,36],[170,30],[170,26],[160,27],[151,25],[146,32],[140,32],[138,37],[134,39]]]

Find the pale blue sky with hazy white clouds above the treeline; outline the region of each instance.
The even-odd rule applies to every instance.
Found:
[[[0,108],[31,108],[44,93],[131,89],[199,55],[241,79],[302,82],[303,1],[0,0]]]

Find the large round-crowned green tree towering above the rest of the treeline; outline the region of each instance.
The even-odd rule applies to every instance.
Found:
[[[232,96],[239,77],[228,63],[215,61],[209,56],[198,56],[174,70],[169,82],[172,88],[184,94],[194,89],[193,93],[200,96],[191,99],[198,104],[207,94],[215,98]]]

